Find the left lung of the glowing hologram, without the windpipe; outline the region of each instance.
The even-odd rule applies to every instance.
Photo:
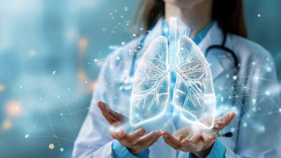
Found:
[[[153,40],[136,70],[131,96],[133,126],[160,116],[169,99],[168,44],[165,37]]]

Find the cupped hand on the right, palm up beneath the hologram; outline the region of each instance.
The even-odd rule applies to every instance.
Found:
[[[194,131],[191,126],[184,127],[173,135],[167,131],[161,131],[165,142],[176,150],[193,153],[196,157],[204,158],[210,153],[214,141],[217,139],[216,132],[227,126],[236,116],[236,112],[224,114],[221,118],[215,119],[214,127],[211,130],[204,129]]]

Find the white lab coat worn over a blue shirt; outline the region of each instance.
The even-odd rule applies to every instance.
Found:
[[[159,21],[153,28],[152,32],[147,35],[144,40],[144,47],[148,47],[152,40],[161,35],[161,22]],[[199,44],[199,48],[204,53],[210,45],[221,44],[223,34],[218,24],[214,22],[205,38]],[[140,37],[141,39],[142,37]],[[117,49],[110,54],[104,63],[96,83],[96,89],[93,93],[91,106],[88,115],[82,125],[79,136],[75,141],[72,157],[79,158],[111,158],[112,154],[112,142],[113,139],[109,136],[109,124],[100,113],[100,109],[97,107],[97,101],[106,102],[113,110],[129,117],[130,110],[130,92],[124,93],[119,90],[120,82],[122,82],[132,69],[132,55],[129,54],[129,49],[135,47],[140,42],[140,39],[133,40],[126,44],[124,47]],[[259,82],[254,81],[255,76],[261,76],[265,79],[276,80],[276,70],[270,53],[262,48],[260,45],[239,37],[237,35],[228,34],[225,46],[233,50],[241,64],[238,74],[237,89],[246,86],[248,88],[239,89],[236,92],[239,98],[227,99],[226,91],[231,89],[233,84],[232,76],[235,75],[233,69],[233,59],[226,58],[229,54],[226,54],[222,50],[214,50],[216,52],[210,52],[208,55],[208,62],[211,64],[211,72],[214,80],[214,87],[217,96],[223,96],[225,101],[230,102],[233,100],[235,103],[228,103],[232,105],[228,111],[236,110],[238,116],[231,122],[230,125],[225,127],[220,133],[230,132],[230,128],[236,129],[231,138],[219,138],[226,147],[225,157],[235,158],[281,158],[281,146],[280,146],[280,126],[281,126],[281,114],[278,113],[278,106],[280,107],[280,97],[278,93],[272,93],[270,97],[265,95],[258,95],[258,92],[263,92],[268,88],[272,89],[273,82],[266,82],[264,85],[260,85]],[[133,52],[134,50],[132,50]],[[136,65],[141,59],[144,50],[140,51],[137,55]],[[216,54],[218,53],[218,54]],[[222,54],[220,54],[222,53]],[[117,59],[119,57],[120,59]],[[124,61],[124,62],[120,62]],[[257,65],[263,67],[272,67],[272,72],[264,71],[261,66],[249,66],[253,61],[256,61]],[[136,68],[136,66],[135,66]],[[225,78],[225,75],[229,74],[229,78]],[[261,84],[263,84],[261,82]],[[228,87],[220,89],[221,87]],[[255,89],[258,89],[256,91]],[[224,91],[224,92],[221,92]],[[247,112],[253,107],[251,106],[253,98],[257,100],[261,110],[254,113],[253,118],[247,118]],[[274,101],[273,101],[273,100]],[[226,103],[217,99],[217,112],[225,108]],[[275,103],[274,103],[275,102]],[[241,106],[243,105],[243,106]],[[256,108],[258,108],[256,107]],[[163,115],[158,119],[154,119],[149,123],[143,124],[147,132],[151,130],[165,129],[171,133],[176,130],[189,125],[183,119],[175,119],[179,113],[177,108],[172,110],[170,106],[166,108],[167,115]],[[170,112],[170,113],[169,113]],[[270,112],[274,112],[271,115],[264,115]],[[222,112],[223,113],[223,112]],[[247,123],[246,128],[242,126]],[[262,127],[263,125],[263,127]],[[262,129],[259,129],[261,127]],[[265,130],[263,131],[263,129]],[[263,131],[263,132],[262,132]],[[159,140],[151,147],[149,147],[151,158],[187,158],[187,153],[176,151],[167,145],[163,138]]]

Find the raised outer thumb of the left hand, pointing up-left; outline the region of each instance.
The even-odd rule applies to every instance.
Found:
[[[117,121],[124,121],[126,119],[125,116],[111,110],[110,107],[102,101],[97,102],[97,105],[100,108],[101,114],[110,124]]]

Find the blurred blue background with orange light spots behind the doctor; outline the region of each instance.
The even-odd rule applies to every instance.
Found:
[[[1,158],[71,156],[100,69],[89,63],[123,41],[138,2],[0,0]],[[249,39],[280,80],[281,0],[244,4]]]

